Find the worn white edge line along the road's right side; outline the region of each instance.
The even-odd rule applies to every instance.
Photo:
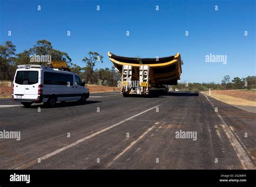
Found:
[[[204,94],[204,96],[211,103],[213,110],[215,111],[214,106],[213,106],[212,102],[210,101],[210,99],[205,94]],[[216,112],[216,113],[217,113],[217,116],[219,117],[220,121],[223,123],[224,131],[227,135],[227,138],[230,140],[231,145],[233,146],[235,152],[237,153],[237,156],[238,156],[242,166],[245,169],[255,169],[253,163],[251,162],[250,157],[246,154],[246,151],[244,150],[244,148],[242,148],[241,144],[235,138],[235,135],[232,132],[232,130],[230,129],[230,127],[226,124],[223,117],[220,116],[220,113],[219,112]]]

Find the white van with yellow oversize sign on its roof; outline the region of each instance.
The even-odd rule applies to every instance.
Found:
[[[78,100],[85,103],[89,89],[79,75],[69,71],[41,65],[19,65],[13,84],[12,100],[25,107],[32,103],[44,103],[54,107],[56,102]]]

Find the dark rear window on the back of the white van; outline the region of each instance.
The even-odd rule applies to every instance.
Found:
[[[38,83],[38,71],[17,71],[15,83],[17,84]]]

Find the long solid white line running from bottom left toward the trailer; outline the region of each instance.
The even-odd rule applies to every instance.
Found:
[[[157,105],[157,106],[160,106],[160,105]],[[152,108],[150,108],[150,109],[147,109],[147,110],[145,110],[145,111],[143,111],[143,112],[140,112],[140,113],[138,113],[138,114],[136,114],[136,115],[134,115],[134,116],[132,116],[132,117],[130,117],[130,118],[127,118],[127,119],[125,119],[125,120],[123,120],[123,121],[120,121],[120,122],[118,122],[118,123],[116,123],[116,124],[114,124],[114,125],[111,125],[111,126],[109,126],[109,127],[103,128],[102,130],[100,130],[100,131],[98,131],[98,132],[96,132],[96,133],[93,133],[93,134],[91,134],[91,135],[89,135],[89,136],[86,136],[86,137],[80,139],[80,140],[77,140],[77,141],[75,141],[75,142],[73,142],[73,143],[70,143],[69,145],[66,145],[66,146],[64,146],[64,147],[62,147],[62,148],[59,148],[59,149],[57,149],[57,150],[55,150],[55,151],[53,151],[53,152],[51,152],[51,153],[48,153],[48,154],[46,154],[46,155],[44,155],[44,156],[41,156],[41,157],[39,157],[39,158],[41,159],[41,161],[43,161],[43,160],[45,160],[45,159],[49,159],[51,156],[56,155],[56,154],[58,154],[58,153],[60,153],[60,152],[63,152],[64,150],[69,149],[69,148],[71,148],[71,147],[73,147],[73,146],[76,146],[76,145],[78,145],[79,143],[82,143],[82,142],[85,141],[85,140],[88,140],[88,139],[90,139],[90,138],[92,138],[92,137],[94,137],[94,136],[96,136],[96,135],[98,135],[98,134],[101,134],[101,133],[103,133],[103,132],[106,132],[106,131],[110,130],[111,128],[114,128],[114,127],[116,127],[116,126],[118,126],[118,125],[121,125],[121,124],[125,123],[125,121],[129,121],[130,119],[135,118],[135,117],[137,117],[137,116],[140,116],[141,114],[143,114],[143,113],[145,113],[145,112],[148,112],[148,111],[150,111],[150,110],[156,109],[157,106],[154,106],[154,107],[152,107]],[[25,163],[25,164],[23,164],[22,166],[19,166],[19,167],[15,168],[15,169],[26,169],[26,168],[31,167],[31,166],[33,166],[34,164],[36,164],[37,161],[38,161],[37,159],[36,159],[36,160],[33,160],[33,161],[30,161],[30,162]]]

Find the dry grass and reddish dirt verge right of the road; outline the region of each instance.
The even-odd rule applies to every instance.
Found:
[[[211,90],[211,97],[230,105],[256,106],[256,92],[251,90]]]

